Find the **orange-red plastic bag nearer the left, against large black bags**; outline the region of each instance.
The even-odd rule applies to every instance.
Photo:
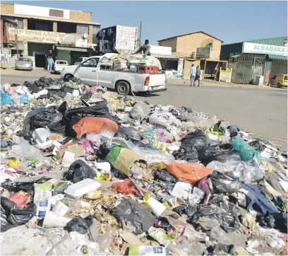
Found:
[[[77,138],[80,139],[84,134],[117,132],[118,124],[105,117],[84,117],[73,125],[73,130],[77,133]]]

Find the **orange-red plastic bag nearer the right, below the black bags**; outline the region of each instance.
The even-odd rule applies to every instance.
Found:
[[[212,169],[198,163],[176,163],[175,161],[168,165],[167,170],[178,180],[186,180],[192,184],[212,173]]]

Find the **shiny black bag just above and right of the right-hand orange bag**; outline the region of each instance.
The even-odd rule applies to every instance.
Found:
[[[213,156],[222,155],[224,153],[230,153],[234,151],[231,144],[220,144],[217,146],[204,146],[197,149],[198,159],[200,161],[205,160],[206,158],[211,158]]]

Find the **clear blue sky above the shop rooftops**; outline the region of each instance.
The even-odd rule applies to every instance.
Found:
[[[91,21],[140,27],[142,41],[199,30],[224,43],[287,35],[287,1],[1,1],[92,12]]]

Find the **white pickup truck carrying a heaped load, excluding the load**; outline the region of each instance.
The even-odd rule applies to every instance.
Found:
[[[103,66],[101,59],[101,56],[93,56],[78,65],[67,66],[61,71],[61,78],[68,81],[72,77],[78,77],[88,86],[112,88],[122,95],[127,95],[131,91],[133,93],[167,91],[165,74],[114,71]]]

